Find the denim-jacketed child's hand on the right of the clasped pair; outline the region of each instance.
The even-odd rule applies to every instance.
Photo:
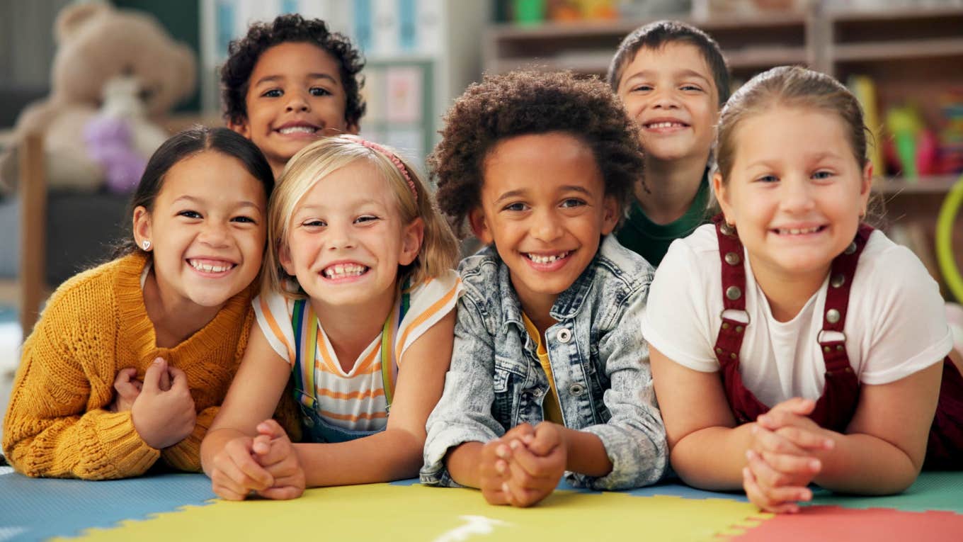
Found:
[[[513,438],[508,441],[508,447],[510,476],[502,487],[508,503],[531,506],[551,495],[565,473],[567,459],[559,426],[542,421],[535,427],[534,436]]]

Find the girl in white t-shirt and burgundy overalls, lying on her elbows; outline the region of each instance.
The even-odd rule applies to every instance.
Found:
[[[690,485],[791,512],[810,483],[889,494],[924,463],[963,464],[939,289],[861,223],[864,130],[846,87],[804,68],[756,76],[722,110],[722,214],[672,244],[642,323],[671,464]]]

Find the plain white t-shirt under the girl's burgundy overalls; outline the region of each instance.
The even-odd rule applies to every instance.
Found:
[[[768,300],[745,262],[745,310],[750,324],[740,352],[745,387],[773,406],[794,396],[817,399],[825,363],[822,329],[829,277],[789,322],[772,317]],[[674,362],[719,370],[713,349],[722,323],[722,278],[713,225],[669,247],[649,289],[642,335]],[[846,311],[846,355],[860,382],[887,384],[942,361],[952,347],[939,287],[905,247],[873,230],[859,257]]]

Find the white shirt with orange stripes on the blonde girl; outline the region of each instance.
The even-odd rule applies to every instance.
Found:
[[[395,335],[389,339],[399,370],[402,370],[404,353],[408,347],[445,314],[455,309],[461,287],[457,272],[451,270],[410,289],[408,310]],[[295,343],[291,325],[294,301],[278,293],[262,290],[252,303],[257,324],[274,352],[293,366],[295,349],[301,347]],[[395,300],[392,313],[398,313],[399,303],[401,296]],[[314,382],[318,414],[331,425],[356,431],[377,431],[387,424],[387,400],[381,378],[380,335],[354,360],[351,370],[345,371],[319,322]]]

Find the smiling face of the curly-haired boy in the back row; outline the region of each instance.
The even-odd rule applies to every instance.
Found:
[[[357,133],[345,120],[338,62],[312,43],[286,41],[264,51],[251,71],[245,104],[244,122],[229,125],[264,152],[274,176],[312,141]]]

